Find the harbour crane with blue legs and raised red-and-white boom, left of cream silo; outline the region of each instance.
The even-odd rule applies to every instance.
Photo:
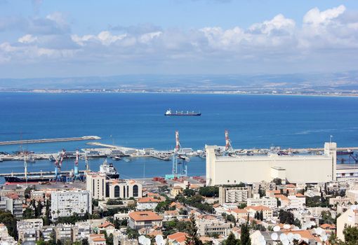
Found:
[[[183,152],[180,141],[179,132],[175,131],[175,148],[173,154],[173,169],[172,175],[175,176],[187,176],[187,162],[190,158]]]

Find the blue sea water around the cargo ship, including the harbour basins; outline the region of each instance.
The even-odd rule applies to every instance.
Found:
[[[330,135],[338,146],[358,146],[358,98],[237,94],[38,94],[0,93],[0,141],[97,135],[100,142],[133,148],[173,149],[175,130],[182,147],[322,147]],[[200,117],[166,117],[172,111],[200,111]],[[0,151],[75,151],[86,141],[0,146]],[[102,159],[91,160],[97,170]],[[124,178],[164,176],[171,162],[138,158],[114,162]],[[84,162],[80,162],[84,167]],[[62,169],[72,169],[73,160]],[[51,170],[37,161],[29,170]],[[144,171],[145,169],[145,171]],[[0,172],[22,172],[22,162],[0,162]],[[192,158],[190,175],[205,174],[205,160]]]

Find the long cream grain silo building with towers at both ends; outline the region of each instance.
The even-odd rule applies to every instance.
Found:
[[[336,143],[325,143],[322,155],[217,156],[206,146],[206,185],[270,182],[324,183],[336,180]]]

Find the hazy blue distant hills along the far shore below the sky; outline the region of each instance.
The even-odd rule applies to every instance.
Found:
[[[263,75],[126,75],[80,78],[0,79],[0,90],[358,90],[358,71]]]

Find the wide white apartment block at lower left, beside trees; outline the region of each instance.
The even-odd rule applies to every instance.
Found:
[[[51,193],[52,219],[74,213],[92,214],[92,197],[88,190],[57,190]]]

